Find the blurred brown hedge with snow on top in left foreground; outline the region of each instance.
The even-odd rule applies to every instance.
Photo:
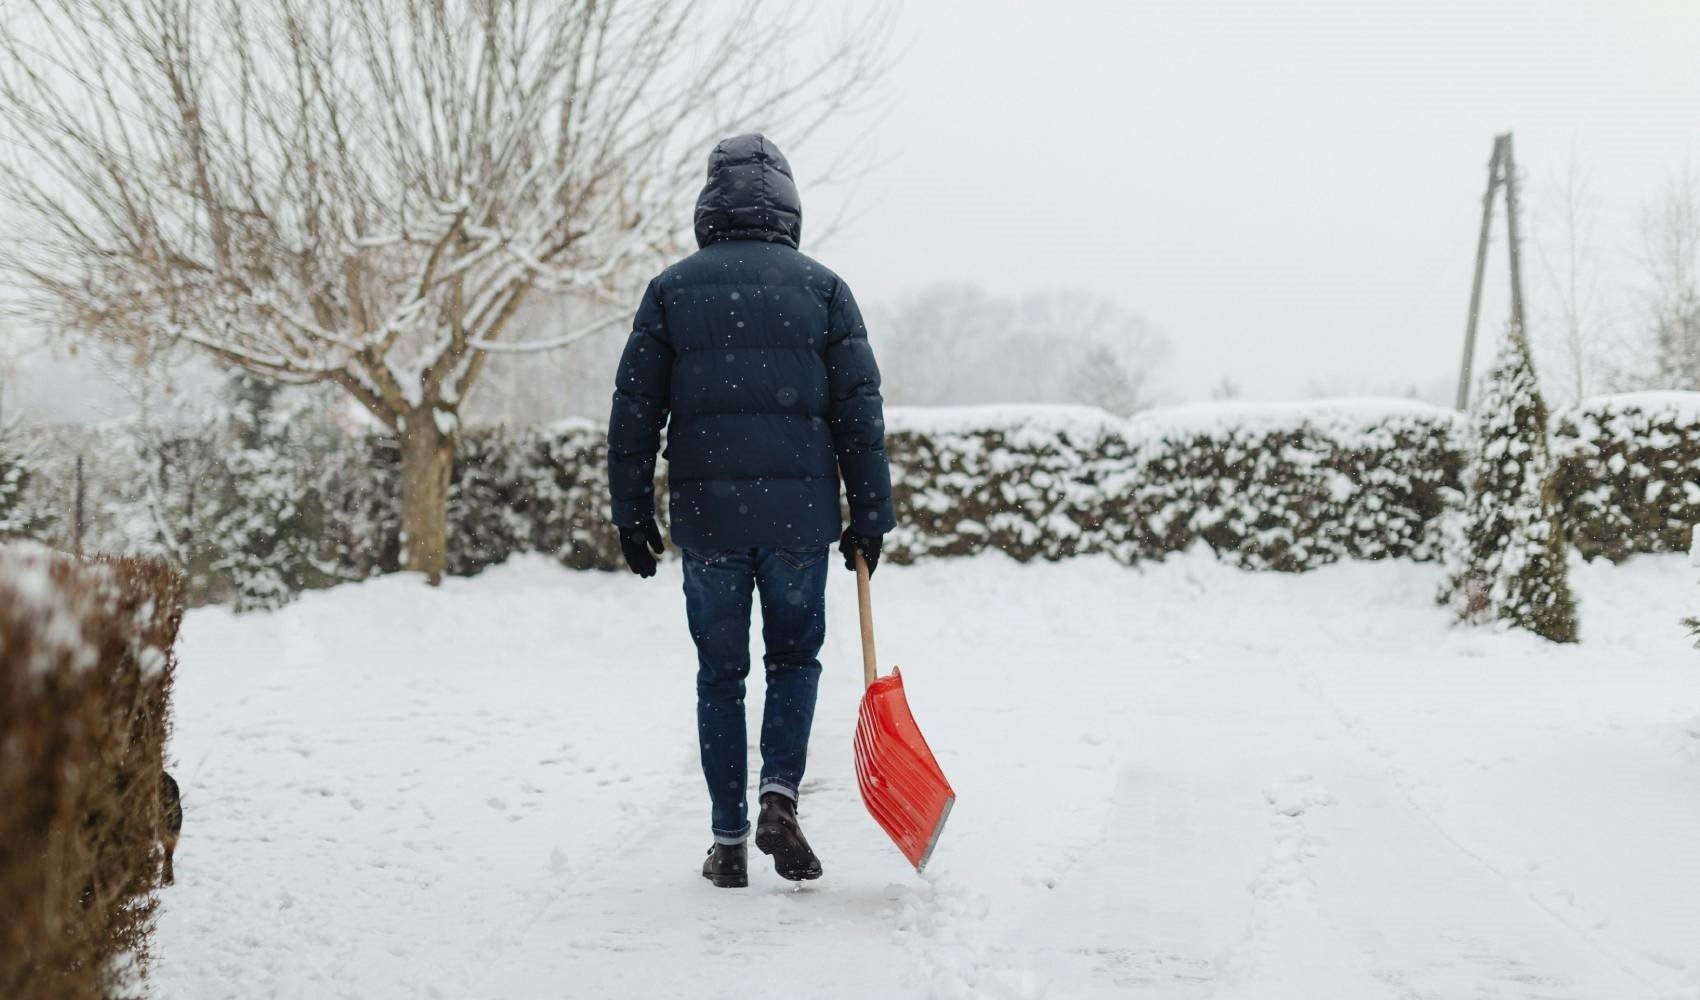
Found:
[[[141,993],[184,587],[0,546],[0,997]]]

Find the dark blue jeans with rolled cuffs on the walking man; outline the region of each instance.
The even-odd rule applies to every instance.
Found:
[[[750,675],[750,594],[762,595],[767,704],[762,784],[797,798],[814,724],[814,690],[826,639],[826,546],[809,549],[685,549],[685,617],[697,643],[697,741],[709,782],[714,840],[750,835],[745,677]]]

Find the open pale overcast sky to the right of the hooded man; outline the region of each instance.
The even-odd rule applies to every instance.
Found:
[[[1168,332],[1178,398],[1224,376],[1448,395],[1494,133],[1516,133],[1532,211],[1581,163],[1613,287],[1640,204],[1700,162],[1695,0],[913,0],[898,20],[877,170],[811,199],[796,158],[814,218],[855,199],[813,250],[864,301],[1112,294]]]

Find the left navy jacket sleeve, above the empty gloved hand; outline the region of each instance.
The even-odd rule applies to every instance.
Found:
[[[651,281],[614,374],[614,408],[609,412],[609,497],[619,527],[654,517],[654,452],[661,447],[672,388],[673,344],[666,335],[661,291]]]

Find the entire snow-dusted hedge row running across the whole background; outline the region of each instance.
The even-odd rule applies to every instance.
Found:
[[[1686,544],[1685,526],[1700,522],[1700,396],[1595,400],[1556,425],[1561,498],[1584,553]],[[899,563],[989,548],[1136,563],[1202,543],[1238,565],[1287,571],[1428,560],[1465,434],[1450,410],[1406,400],[1236,401],[1134,418],[1071,406],[891,408],[899,527],[887,553]],[[32,534],[68,541],[83,454],[85,549],[163,556],[187,570],[196,600],[269,607],[400,565],[400,463],[384,437],[292,427],[255,446],[194,425],[32,435],[10,452],[34,456],[14,480],[27,483],[17,503],[37,514]],[[450,571],[476,573],[515,551],[619,568],[605,447],[602,427],[583,420],[464,430]],[[658,493],[665,509],[665,485]]]

